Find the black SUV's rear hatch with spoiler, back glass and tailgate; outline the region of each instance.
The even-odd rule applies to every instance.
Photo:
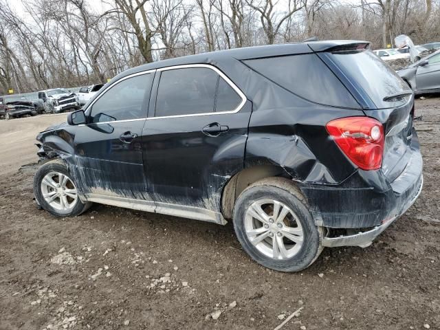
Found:
[[[391,183],[404,173],[410,162],[414,163],[411,161],[415,151],[411,143],[414,95],[391,67],[366,49],[367,45],[334,47],[320,52],[319,56],[360,102],[364,113],[384,125],[382,172]],[[418,146],[416,152],[419,157]]]

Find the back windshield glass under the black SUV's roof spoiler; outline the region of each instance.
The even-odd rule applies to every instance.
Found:
[[[364,89],[378,109],[395,107],[398,103],[384,101],[386,96],[410,90],[391,67],[369,50],[334,52],[331,58],[350,80]],[[406,100],[403,98],[399,102]]]

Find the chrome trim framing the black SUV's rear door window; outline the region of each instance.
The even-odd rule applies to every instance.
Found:
[[[230,87],[232,89],[234,89],[234,91],[236,92],[236,94],[238,94],[241,98],[241,102],[239,103],[239,105],[237,105],[235,107],[235,109],[233,110],[228,110],[228,111],[219,111],[219,112],[206,112],[206,113],[187,113],[185,115],[161,115],[161,116],[155,116],[153,115],[153,117],[148,117],[146,118],[146,120],[156,120],[156,119],[164,119],[164,118],[182,118],[182,117],[198,117],[201,115],[225,115],[225,114],[230,114],[230,113],[237,113],[239,112],[242,108],[243,105],[245,104],[246,100],[248,100],[245,96],[245,94],[243,93],[243,91],[241,91],[241,89],[239,89],[239,87],[237,87],[232,80],[230,80],[230,78],[228,78],[228,76],[226,76],[225,74],[223,74],[223,72],[221,72],[220,69],[218,69],[217,67],[214,67],[214,65],[210,65],[210,64],[184,64],[184,65],[173,65],[172,67],[161,67],[159,69],[157,69],[157,72],[164,72],[164,71],[168,71],[168,70],[175,70],[175,69],[188,69],[188,68],[194,68],[194,67],[206,67],[208,69],[212,69],[215,73],[217,73],[221,78],[223,78],[223,80],[225,80],[225,82],[230,85]],[[157,100],[157,91],[159,90],[160,87],[160,83],[157,86],[157,90],[156,90],[156,100]],[[217,91],[216,91],[217,94]],[[156,108],[156,107],[155,107]],[[154,109],[153,113],[156,113],[156,109]]]

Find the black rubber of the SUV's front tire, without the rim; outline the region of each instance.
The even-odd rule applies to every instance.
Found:
[[[43,181],[45,175],[50,172],[62,173],[63,175],[67,176],[75,186],[77,186],[74,182],[74,179],[72,179],[72,175],[70,175],[69,171],[67,170],[67,166],[62,160],[55,159],[43,164],[34,175],[34,196],[36,202],[39,204],[39,206],[41,206],[41,208],[47,210],[47,212],[50,212],[50,214],[53,214],[57,217],[75,217],[76,215],[85,212],[91,206],[90,202],[83,203],[79,198],[76,200],[76,204],[70,210],[58,210],[50,206],[50,204],[45,201],[43,192],[41,190],[41,181]]]

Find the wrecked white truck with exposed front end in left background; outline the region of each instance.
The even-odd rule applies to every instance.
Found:
[[[39,100],[45,112],[60,113],[67,110],[80,109],[80,102],[76,94],[64,88],[39,91]]]

